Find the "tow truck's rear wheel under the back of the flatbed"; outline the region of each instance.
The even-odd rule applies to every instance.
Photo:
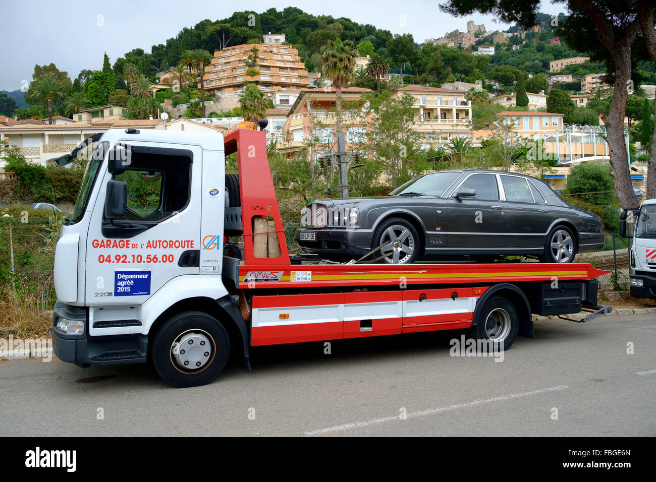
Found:
[[[520,317],[517,309],[506,298],[492,296],[483,304],[478,315],[478,324],[470,329],[475,340],[491,340],[495,351],[508,350],[517,338]]]

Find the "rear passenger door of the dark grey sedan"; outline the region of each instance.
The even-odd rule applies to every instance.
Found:
[[[506,201],[506,246],[526,249],[543,247],[546,231],[554,219],[544,197],[523,176],[501,174],[500,177]]]

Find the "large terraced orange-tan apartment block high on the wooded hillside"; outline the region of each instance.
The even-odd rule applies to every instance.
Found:
[[[249,58],[250,56],[250,58]],[[256,75],[247,75],[254,64]],[[253,73],[253,72],[251,72]],[[206,66],[205,93],[238,94],[246,81],[260,81],[264,92],[290,91],[297,94],[310,85],[308,71],[298,50],[288,45],[255,43],[217,50]]]

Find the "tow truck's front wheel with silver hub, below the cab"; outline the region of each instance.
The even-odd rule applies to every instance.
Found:
[[[164,323],[153,340],[152,359],[161,378],[177,388],[205,385],[228,362],[230,339],[219,321],[185,311]]]

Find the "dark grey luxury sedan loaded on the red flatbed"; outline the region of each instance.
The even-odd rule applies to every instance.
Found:
[[[419,176],[387,196],[314,201],[298,245],[331,260],[411,263],[427,256],[499,254],[573,262],[604,245],[596,214],[523,174],[465,169]],[[379,260],[380,262],[380,260]]]

